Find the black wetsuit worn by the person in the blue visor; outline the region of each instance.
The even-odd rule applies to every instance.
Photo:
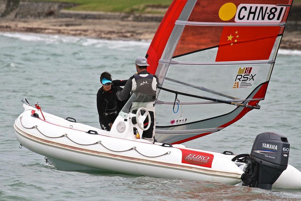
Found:
[[[99,123],[101,128],[104,130],[110,130],[109,123],[114,123],[118,113],[126,104],[127,100],[119,101],[116,97],[117,91],[121,91],[122,88],[119,86],[124,86],[125,81],[113,80],[112,86],[109,91],[104,91],[101,87],[97,92],[97,110],[99,116]],[[112,113],[112,114],[105,114]]]

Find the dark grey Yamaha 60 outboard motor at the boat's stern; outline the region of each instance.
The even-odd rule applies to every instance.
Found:
[[[241,176],[243,186],[271,190],[272,184],[287,168],[290,144],[283,135],[264,132],[256,136],[247,167]]]

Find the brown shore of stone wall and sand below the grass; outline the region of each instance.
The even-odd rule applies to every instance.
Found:
[[[0,31],[151,40],[163,15],[61,10],[70,4],[0,0]],[[4,4],[6,6],[4,6]],[[33,11],[25,12],[34,6]],[[41,10],[39,10],[41,8]],[[293,9],[294,8],[294,9]],[[292,7],[280,48],[301,50],[301,4]]]

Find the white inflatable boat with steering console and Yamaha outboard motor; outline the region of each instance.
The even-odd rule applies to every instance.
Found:
[[[126,111],[125,106],[109,132],[78,123],[74,118],[43,112],[26,98],[23,102],[25,110],[14,123],[18,141],[45,156],[58,170],[106,170],[231,185],[242,183],[265,189],[272,185],[301,188],[300,171],[287,164],[287,138],[279,134],[259,134],[251,155],[217,153],[142,139],[142,125],[148,115],[143,107],[134,114]],[[141,115],[141,110],[146,112]]]

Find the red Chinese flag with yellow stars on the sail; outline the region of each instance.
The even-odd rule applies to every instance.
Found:
[[[216,62],[269,59],[280,27],[224,27]]]

